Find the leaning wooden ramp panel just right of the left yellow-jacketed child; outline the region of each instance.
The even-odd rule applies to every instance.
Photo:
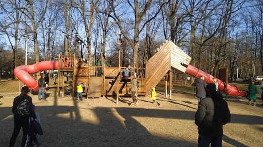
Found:
[[[90,77],[87,97],[101,97],[103,77]]]

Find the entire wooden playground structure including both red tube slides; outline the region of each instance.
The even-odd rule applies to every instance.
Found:
[[[144,68],[134,68],[133,70],[140,75],[141,78],[137,78],[140,85],[137,91],[137,95],[148,95],[151,93],[152,88],[155,87],[161,79],[168,74],[171,74],[171,69],[177,72],[182,72],[189,74],[195,78],[204,76],[204,81],[206,83],[213,83],[213,76],[207,74],[206,72],[193,67],[190,65],[191,57],[185,54],[177,45],[172,41],[166,41],[163,43],[158,52],[147,62],[145,62]],[[60,95],[60,72],[63,74],[63,86],[62,86],[62,96],[64,91],[72,91],[72,96],[76,95],[75,88],[79,80],[84,85],[88,85],[83,90],[83,95],[87,97],[101,97],[108,95],[116,95],[117,104],[119,96],[130,96],[129,92],[130,80],[127,82],[122,77],[121,70],[125,67],[107,67],[104,66],[91,66],[77,59],[75,56],[59,55],[58,61],[43,61],[33,65],[22,65],[17,66],[14,69],[14,75],[25,83],[29,89],[34,91],[39,90],[37,81],[33,79],[29,74],[36,72],[41,72],[43,70],[55,70],[58,69],[58,96]],[[104,71],[103,74],[100,71]],[[72,81],[68,78],[64,80],[65,77],[72,77]],[[167,87],[167,78],[165,79],[165,87]],[[172,81],[172,76],[170,76],[170,81]],[[220,79],[218,81],[218,89],[234,96],[247,95],[245,91],[239,91],[237,86],[231,86],[226,84]],[[166,88],[165,88],[166,89]],[[172,92],[172,82],[170,82],[170,99]]]

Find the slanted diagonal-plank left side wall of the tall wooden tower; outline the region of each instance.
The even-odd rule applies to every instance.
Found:
[[[168,70],[171,70],[171,42],[168,41],[160,46],[158,52],[146,62],[146,94],[151,93]]]

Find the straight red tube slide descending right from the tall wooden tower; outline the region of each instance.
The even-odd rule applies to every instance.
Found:
[[[203,76],[204,77],[204,81],[206,83],[213,83],[213,76],[211,76],[210,74],[192,66],[192,65],[188,65],[186,70],[185,70],[185,73],[186,74],[189,74],[195,78],[198,78],[200,76]],[[245,91],[239,91],[238,87],[237,86],[231,86],[228,84],[228,90],[226,90],[226,83],[217,79],[217,82],[218,82],[218,89],[225,92],[225,93],[228,93],[230,95],[234,95],[234,96],[247,96],[247,92]]]

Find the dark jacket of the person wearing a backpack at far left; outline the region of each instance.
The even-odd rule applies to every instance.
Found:
[[[14,119],[21,118],[21,116],[17,112],[17,106],[20,104],[21,101],[24,101],[25,99],[27,99],[29,102],[29,115],[28,115],[28,117],[33,117],[34,119],[36,119],[36,115],[35,115],[35,111],[34,111],[34,107],[33,107],[33,103],[32,103],[32,98],[30,96],[28,96],[27,94],[19,95],[19,96],[16,96],[14,98],[14,103],[13,103],[13,108],[12,108],[12,112],[14,113]],[[23,117],[26,117],[26,116],[23,116]]]

